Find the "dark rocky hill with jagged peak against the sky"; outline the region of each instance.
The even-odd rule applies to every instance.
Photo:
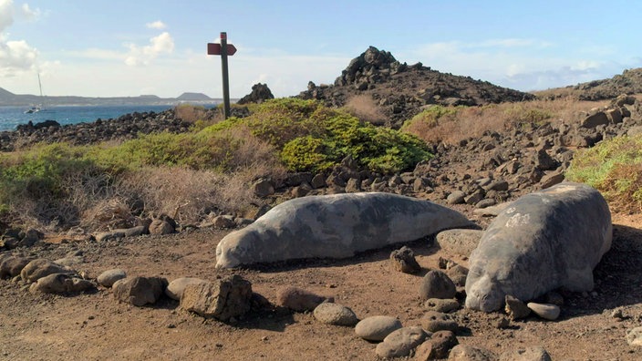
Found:
[[[409,66],[374,46],[352,59],[333,85],[316,86],[310,82],[298,97],[343,107],[357,95],[373,98],[393,127],[432,104],[475,106],[534,98],[533,94],[487,81],[441,73],[421,63]]]

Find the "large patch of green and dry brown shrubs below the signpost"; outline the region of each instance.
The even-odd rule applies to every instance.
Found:
[[[430,158],[413,136],[313,100],[274,99],[252,110],[247,118],[216,121],[202,119],[202,109],[181,107],[193,116],[189,133],[82,147],[38,145],[0,155],[0,216],[92,231],[98,227],[92,220],[126,225],[131,211],[197,222],[210,211],[243,214],[260,203],[249,187],[260,177],[326,171],[347,156],[385,173]]]

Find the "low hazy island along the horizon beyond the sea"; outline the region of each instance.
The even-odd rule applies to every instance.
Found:
[[[233,99],[235,100],[235,99]],[[192,104],[218,104],[222,98],[210,98],[202,93],[182,93],[178,98],[160,98],[155,95],[141,95],[138,97],[113,97],[113,98],[92,98],[92,97],[39,97],[31,94],[14,94],[4,88],[0,88],[0,107],[15,106],[29,107],[34,104],[51,106],[119,106],[119,105],[176,105],[180,103]]]

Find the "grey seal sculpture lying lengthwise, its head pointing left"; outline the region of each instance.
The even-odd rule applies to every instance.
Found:
[[[471,227],[458,211],[384,192],[308,196],[285,201],[225,236],[216,266],[305,258],[347,258],[449,228]]]

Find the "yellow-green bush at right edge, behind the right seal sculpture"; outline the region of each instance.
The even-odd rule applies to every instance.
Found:
[[[602,191],[616,211],[642,210],[642,135],[578,150],[566,178]]]

